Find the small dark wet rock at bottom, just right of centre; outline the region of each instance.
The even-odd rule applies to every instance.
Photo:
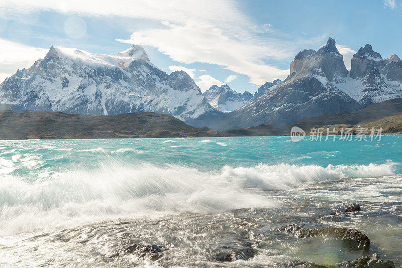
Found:
[[[235,246],[222,246],[216,250],[215,259],[218,261],[249,260],[255,256],[254,248],[245,243]]]

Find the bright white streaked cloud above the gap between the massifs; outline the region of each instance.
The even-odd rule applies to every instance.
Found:
[[[155,47],[173,60],[186,64],[204,62],[224,66],[249,76],[251,83],[258,85],[276,78],[284,79],[289,74],[289,70],[262,61],[270,57],[285,58],[285,54],[269,45],[231,39],[212,25],[168,24],[168,28],[138,31],[129,40],[119,41]]]

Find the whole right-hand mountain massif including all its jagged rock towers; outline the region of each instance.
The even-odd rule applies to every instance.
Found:
[[[218,130],[259,124],[291,125],[310,116],[354,111],[402,97],[402,61],[382,59],[370,45],[353,56],[351,71],[328,39],[318,51],[299,52],[290,75],[273,89],[208,125]]]

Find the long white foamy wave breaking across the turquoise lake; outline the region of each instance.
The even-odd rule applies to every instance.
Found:
[[[12,164],[12,163],[11,163]],[[10,164],[10,165],[11,165]],[[267,207],[269,191],[343,178],[393,174],[394,164],[195,168],[109,163],[39,179],[0,176],[0,234],[166,213],[215,213]]]

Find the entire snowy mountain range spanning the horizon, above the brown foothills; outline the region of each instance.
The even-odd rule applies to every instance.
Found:
[[[218,130],[291,125],[400,97],[398,56],[383,59],[367,44],[353,56],[348,71],[332,38],[318,51],[299,52],[283,82],[267,82],[254,95],[228,85],[202,93],[185,72],[166,74],[154,66],[140,46],[115,56],[52,46],[44,59],[0,84],[3,110],[84,115],[153,111]]]

